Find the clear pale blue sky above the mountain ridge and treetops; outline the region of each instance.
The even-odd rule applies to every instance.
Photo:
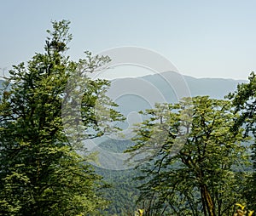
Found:
[[[85,50],[144,48],[183,75],[246,80],[256,71],[255,9],[256,1],[247,0],[2,0],[0,73],[44,52],[50,21],[65,19],[73,60]],[[123,77],[152,73],[125,65],[119,71]]]

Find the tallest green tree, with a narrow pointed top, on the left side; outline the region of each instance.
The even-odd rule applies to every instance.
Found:
[[[122,118],[104,97],[109,82],[86,75],[100,70],[109,58],[85,52],[84,60],[70,60],[65,56],[72,39],[69,21],[52,24],[45,53],[15,65],[1,91],[0,215],[96,215],[107,204],[100,194],[102,178],[89,165],[90,156],[78,154],[77,144],[106,131],[95,114],[97,104],[110,122]],[[79,119],[61,113],[61,105],[77,102],[70,96],[78,90],[75,83],[67,83],[78,76],[84,83],[81,104],[75,106]],[[65,134],[67,120],[68,125],[82,122],[79,141]]]

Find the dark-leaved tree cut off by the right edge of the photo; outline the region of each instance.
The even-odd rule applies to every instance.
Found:
[[[247,202],[248,206],[256,208],[256,75],[254,72],[248,77],[248,83],[241,83],[237,86],[236,92],[229,94],[233,104],[236,106],[236,113],[239,113],[239,118],[236,120],[234,132],[241,126],[246,128],[244,136],[253,137],[252,156],[253,175],[247,184]]]

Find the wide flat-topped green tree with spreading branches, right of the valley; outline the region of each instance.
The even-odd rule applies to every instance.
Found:
[[[242,202],[246,147],[230,101],[198,96],[156,105],[135,129],[145,215],[233,215]],[[146,153],[145,153],[146,152]]]

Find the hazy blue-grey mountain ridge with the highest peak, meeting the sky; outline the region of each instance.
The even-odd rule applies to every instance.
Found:
[[[208,95],[215,99],[236,90],[244,80],[223,78],[195,78],[177,72],[164,72],[136,78],[120,78],[112,81],[108,95],[119,104],[125,115],[131,111],[143,111],[156,102],[176,103],[188,96]]]

